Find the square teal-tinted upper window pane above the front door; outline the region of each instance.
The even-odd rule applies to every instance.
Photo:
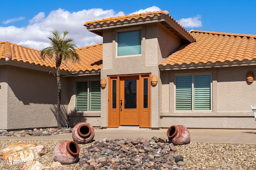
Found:
[[[118,32],[118,56],[141,54],[141,30]]]

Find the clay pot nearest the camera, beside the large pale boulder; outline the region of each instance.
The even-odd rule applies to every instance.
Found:
[[[61,141],[53,151],[53,160],[62,164],[74,164],[78,161],[80,148],[75,141]]]

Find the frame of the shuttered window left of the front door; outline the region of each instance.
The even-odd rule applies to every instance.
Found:
[[[90,109],[90,82],[96,82],[98,81],[100,83],[99,80],[82,80],[82,81],[75,81],[75,97],[74,97],[74,109],[75,111],[78,111],[78,112],[84,112],[84,113],[87,113],[87,112],[90,112],[90,113],[94,113],[94,112],[100,112],[101,111],[101,101],[100,101],[100,110],[89,110]],[[87,97],[88,97],[88,100],[87,100],[87,110],[77,110],[76,109],[76,94],[77,94],[77,83],[78,82],[87,82]],[[101,88],[100,88],[100,95],[101,95]],[[101,98],[100,98],[101,100]]]

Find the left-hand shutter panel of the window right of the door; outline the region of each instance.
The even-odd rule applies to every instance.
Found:
[[[192,76],[176,76],[176,110],[192,109]]]

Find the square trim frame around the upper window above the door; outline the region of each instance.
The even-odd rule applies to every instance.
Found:
[[[120,32],[129,32],[129,31],[137,31],[137,30],[141,30],[141,54],[135,54],[135,55],[121,55],[121,56],[118,56],[118,33]],[[116,47],[116,50],[115,50],[115,57],[116,58],[122,58],[122,57],[136,57],[136,56],[142,56],[143,54],[143,51],[142,51],[142,39],[143,39],[143,29],[142,27],[134,27],[134,28],[126,28],[126,29],[118,29],[116,30],[116,38],[115,38],[115,47]]]

